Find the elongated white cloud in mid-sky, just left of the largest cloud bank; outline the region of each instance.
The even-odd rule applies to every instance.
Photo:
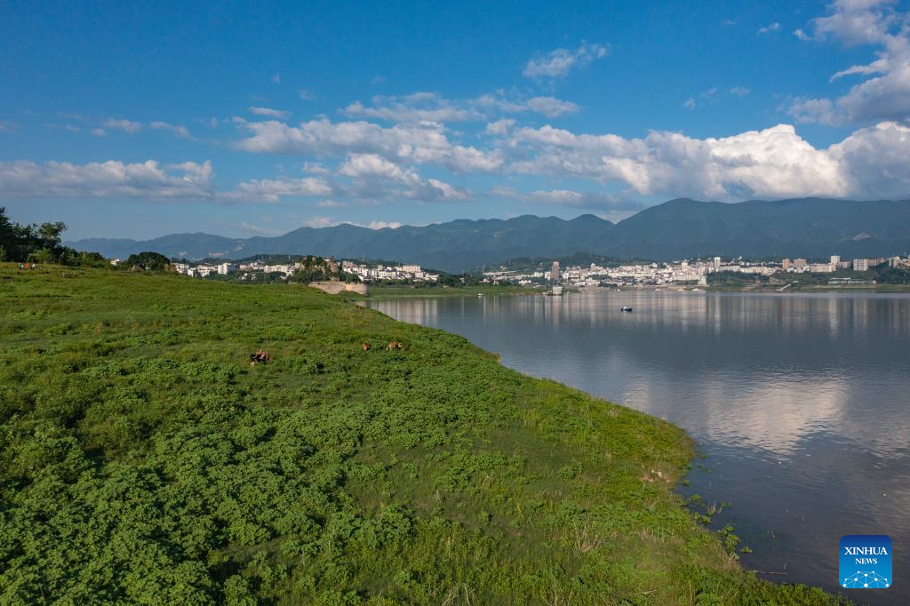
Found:
[[[249,136],[236,146],[257,153],[316,157],[375,154],[398,164],[434,164],[456,172],[490,172],[503,163],[498,150],[481,151],[451,143],[438,123],[386,128],[366,121],[332,123],[322,119],[300,126],[274,120],[244,121],[238,126]]]

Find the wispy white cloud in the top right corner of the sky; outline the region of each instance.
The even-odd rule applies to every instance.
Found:
[[[877,46],[876,59],[831,76],[833,82],[862,78],[843,96],[796,99],[790,113],[800,122],[833,126],[910,120],[910,17],[898,12],[891,0],[838,0],[829,12],[814,19],[814,39]]]

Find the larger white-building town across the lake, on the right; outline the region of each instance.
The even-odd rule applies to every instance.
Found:
[[[788,274],[834,274],[834,272],[861,272],[887,264],[889,268],[910,268],[910,258],[854,258],[844,259],[833,255],[827,263],[809,262],[804,258],[784,258],[780,261],[750,262],[742,258],[681,260],[672,263],[638,263],[602,267],[596,263],[590,266],[571,265],[561,268],[559,261],[550,267],[541,265],[532,270],[517,270],[506,267],[485,271],[483,277],[489,282],[509,282],[521,286],[544,283],[561,283],[570,288],[631,287],[662,285],[707,286],[713,274],[739,274],[743,278],[767,278],[784,284]],[[864,278],[847,276],[831,277],[829,284],[868,283]]]

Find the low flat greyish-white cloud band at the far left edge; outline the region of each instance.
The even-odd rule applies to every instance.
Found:
[[[155,160],[126,164],[116,160],[77,165],[0,162],[0,197],[213,197],[212,166],[184,162],[161,167]]]

